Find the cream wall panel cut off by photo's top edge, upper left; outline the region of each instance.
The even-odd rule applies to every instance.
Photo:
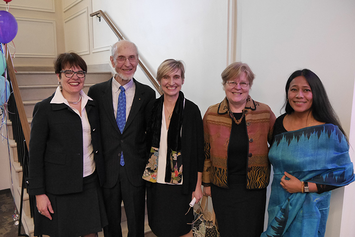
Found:
[[[7,4],[0,3],[0,7],[6,7]],[[10,8],[55,12],[54,0],[15,0],[9,2]]]

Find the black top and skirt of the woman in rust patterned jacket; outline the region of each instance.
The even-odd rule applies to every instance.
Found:
[[[233,113],[240,119],[242,113]],[[246,187],[248,135],[245,117],[232,123],[228,145],[228,189],[211,184],[211,196],[221,237],[260,237],[264,231],[266,188]]]

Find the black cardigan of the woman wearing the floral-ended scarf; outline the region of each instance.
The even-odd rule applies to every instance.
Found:
[[[151,116],[152,107],[155,101],[148,104],[147,116]],[[149,121],[149,119],[148,119]],[[149,126],[149,125],[148,125]],[[201,112],[196,104],[185,98],[181,127],[181,155],[182,155],[182,193],[189,194],[195,191],[197,183],[197,172],[203,171],[204,149],[203,149],[203,123]],[[147,153],[150,153],[150,144],[147,142]],[[147,157],[146,162],[148,162]],[[150,182],[147,182],[150,185]]]

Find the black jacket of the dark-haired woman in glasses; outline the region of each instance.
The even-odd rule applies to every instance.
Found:
[[[83,127],[81,118],[66,104],[51,104],[54,94],[33,110],[29,142],[28,193],[68,194],[83,190]],[[91,128],[96,170],[105,179],[97,104],[85,106]]]

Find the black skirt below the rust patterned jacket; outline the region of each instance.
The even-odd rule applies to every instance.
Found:
[[[211,196],[221,237],[260,237],[264,231],[266,188],[250,190],[244,183],[228,189],[211,185]]]

